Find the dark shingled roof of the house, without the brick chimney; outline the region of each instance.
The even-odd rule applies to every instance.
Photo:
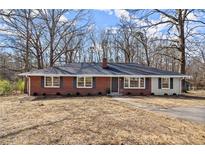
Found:
[[[101,63],[70,63],[64,66],[54,66],[39,70],[33,70],[19,74],[21,76],[176,76],[186,75],[164,71],[153,67],[147,67],[136,63],[108,63],[104,69]]]

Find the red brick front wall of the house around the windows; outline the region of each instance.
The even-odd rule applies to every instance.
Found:
[[[107,90],[110,89],[110,77],[95,77],[95,87],[93,88],[76,88],[73,84],[74,77],[63,77],[63,84],[60,88],[45,88],[42,85],[42,77],[40,76],[31,76],[30,77],[30,95],[37,93],[42,95],[55,95],[60,93],[62,95],[76,94],[77,92],[80,95],[97,95],[101,92],[103,95],[107,94]],[[119,92],[121,94],[131,94],[131,95],[150,95],[151,94],[151,79],[146,78],[146,88],[145,89],[124,89],[123,88],[123,78],[119,78]]]

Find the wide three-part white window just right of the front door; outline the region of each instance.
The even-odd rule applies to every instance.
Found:
[[[140,89],[145,88],[145,78],[124,78],[124,88]]]

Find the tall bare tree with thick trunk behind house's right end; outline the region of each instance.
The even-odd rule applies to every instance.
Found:
[[[193,19],[191,15],[196,10],[188,10],[188,9],[176,9],[176,10],[137,10],[134,13],[141,12],[141,17],[137,19],[140,21],[144,21],[147,24],[142,27],[157,27],[159,25],[166,26],[166,41],[171,42],[169,46],[164,46],[163,48],[167,49],[176,49],[179,54],[177,54],[180,62],[180,73],[186,74],[186,40],[190,31],[193,31],[198,26],[189,27],[190,23],[200,21]],[[139,15],[139,14],[138,14]],[[159,16],[159,20],[153,20],[152,16]],[[167,55],[168,56],[168,55]],[[184,85],[184,82],[183,82]],[[183,86],[184,87],[184,86]]]

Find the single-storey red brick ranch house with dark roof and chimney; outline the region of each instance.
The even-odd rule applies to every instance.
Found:
[[[136,63],[70,63],[20,74],[29,95],[175,95],[188,77]]]

